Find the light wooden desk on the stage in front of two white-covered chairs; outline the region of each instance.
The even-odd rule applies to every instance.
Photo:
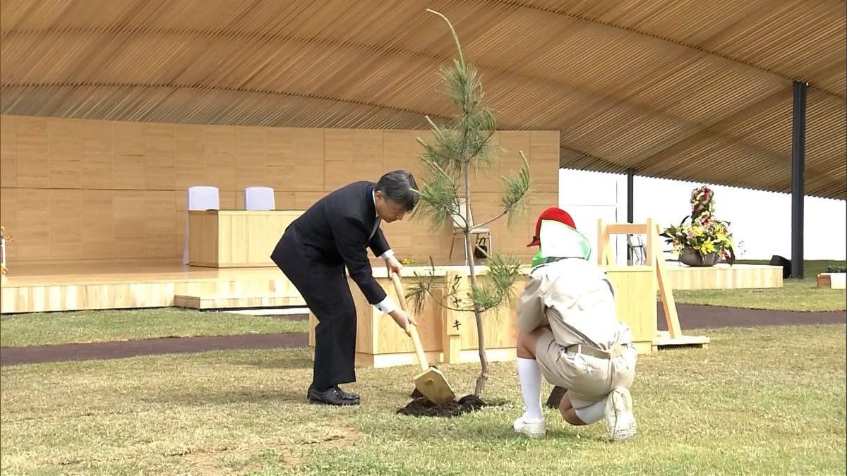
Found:
[[[302,210],[188,212],[188,264],[208,268],[276,266],[270,253]]]

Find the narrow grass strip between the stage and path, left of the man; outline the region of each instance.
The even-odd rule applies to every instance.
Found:
[[[154,337],[307,332],[305,321],[233,313],[161,309],[6,314],[0,346],[42,346]]]

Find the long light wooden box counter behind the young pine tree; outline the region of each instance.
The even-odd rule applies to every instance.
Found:
[[[403,284],[409,289],[418,273],[432,272],[429,267],[403,268]],[[478,274],[487,268],[477,267]],[[528,272],[525,268],[524,272]],[[656,350],[656,276],[647,266],[610,267],[607,273],[617,291],[617,315],[632,328],[639,352]],[[469,286],[468,268],[441,266],[435,276],[444,280],[460,280]],[[385,292],[396,300],[394,287],[385,268],[374,268],[374,277]],[[446,282],[446,281],[445,281]],[[348,278],[357,308],[356,364],[358,367],[393,367],[417,363],[412,340],[402,332],[387,314],[378,313],[370,306]],[[515,291],[523,290],[523,280],[515,284]],[[411,303],[410,303],[411,305]],[[418,321],[418,334],[429,363],[479,362],[477,332],[473,313],[458,313],[428,300],[424,311],[414,316]],[[317,319],[309,314],[309,346],[314,347],[314,327]],[[491,362],[514,360],[518,329],[515,325],[514,307],[503,307],[498,312],[484,315],[486,353]]]

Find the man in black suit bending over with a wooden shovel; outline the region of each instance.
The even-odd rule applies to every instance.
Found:
[[[407,334],[410,323],[415,324],[374,280],[368,248],[385,259],[389,275],[400,272],[402,265],[379,224],[403,219],[411,212],[418,203],[417,186],[412,174],[396,170],[376,184],[355,182],[341,187],[294,220],[274,248],[271,259],[318,318],[308,401],[359,403],[359,396],[338,386],[356,381],[356,307],[345,268],[368,302],[390,314]]]

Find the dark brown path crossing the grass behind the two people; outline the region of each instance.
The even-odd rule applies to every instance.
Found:
[[[658,329],[667,330],[662,303],[658,305]],[[761,325],[847,324],[847,313],[796,313],[738,309],[733,307],[678,304],[683,329],[754,327]],[[0,365],[102,360],[159,354],[194,353],[228,349],[284,349],[305,347],[307,334],[251,334],[220,337],[183,337],[122,342],[96,342],[59,346],[3,347]]]

